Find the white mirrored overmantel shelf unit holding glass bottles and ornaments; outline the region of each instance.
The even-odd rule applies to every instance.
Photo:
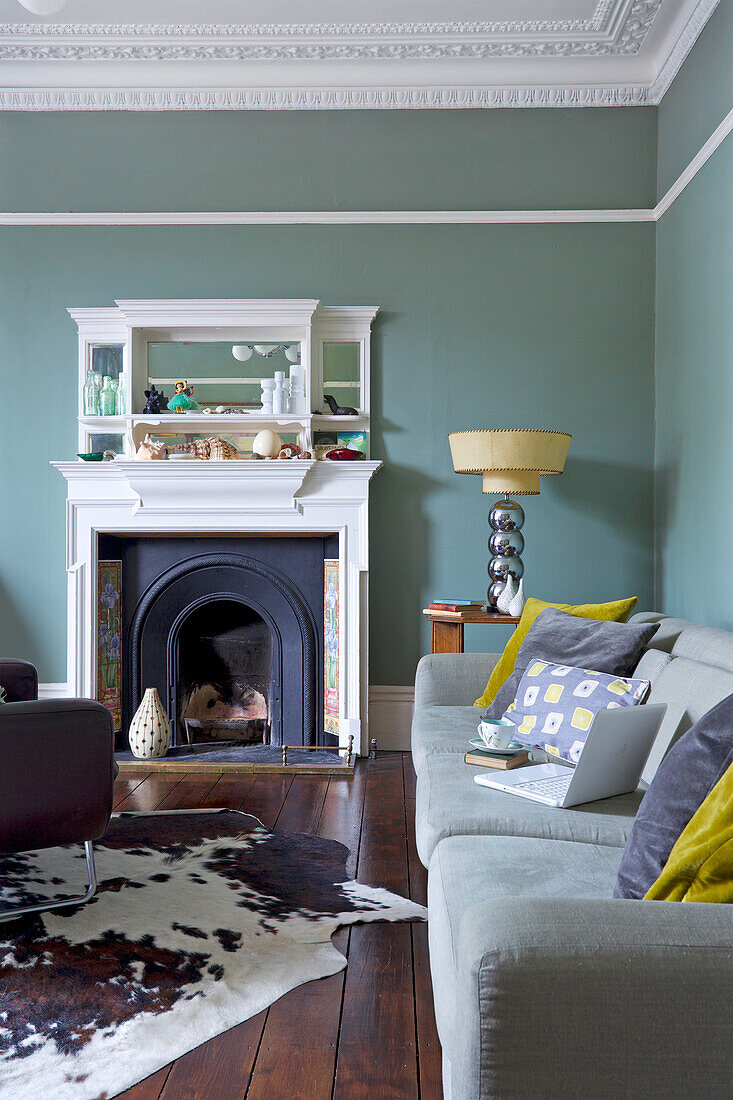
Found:
[[[174,299],[68,312],[78,328],[79,454],[133,458],[150,433],[169,450],[219,436],[248,458],[271,428],[316,458],[339,446],[369,458],[378,307]],[[163,394],[160,411],[146,413],[153,387]]]

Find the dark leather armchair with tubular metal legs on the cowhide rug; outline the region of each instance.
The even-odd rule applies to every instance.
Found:
[[[109,711],[87,698],[39,701],[35,669],[0,659],[0,853],[85,846],[86,893],[61,902],[0,909],[0,917],[78,905],[97,889],[94,840],[112,813],[114,734]]]

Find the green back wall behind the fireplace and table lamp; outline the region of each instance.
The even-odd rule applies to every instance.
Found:
[[[361,112],[354,114],[349,118],[359,134],[363,124],[376,125],[372,117],[364,123]],[[590,206],[603,206],[612,201],[612,193],[613,201],[622,202],[622,191],[624,206],[648,202],[654,179],[654,112],[538,111],[532,114],[532,125],[537,134],[554,136],[560,123],[570,124],[570,114],[578,120],[581,135],[593,130],[593,120],[602,133],[595,133],[593,145],[597,190],[581,194],[578,182],[567,173],[572,197],[568,205],[582,198]],[[558,121],[556,116],[562,118]],[[470,129],[463,112],[450,112],[450,117],[464,133]],[[95,140],[103,132],[103,118],[87,119]],[[139,121],[145,130],[157,118],[130,116],[122,122],[134,129]],[[176,125],[183,125],[186,118],[176,116]],[[194,132],[200,118],[192,120]],[[214,116],[208,118],[216,121]],[[380,118],[385,142],[392,147],[397,123],[392,112]],[[423,125],[420,113],[412,112],[411,118],[415,127]],[[485,112],[473,118],[484,140],[492,127],[495,133],[512,133],[514,118],[519,128],[527,127],[530,112]],[[277,130],[282,117],[270,119]],[[347,116],[322,112],[318,119],[325,125],[333,120],[347,140]],[[50,117],[14,116],[10,120],[13,142],[19,141],[22,122],[37,133],[39,120],[47,127],[51,141]],[[288,122],[300,120],[315,125],[307,116],[287,117]],[[81,141],[81,117],[57,121],[62,129],[72,122],[80,128],[76,133],[77,142]],[[617,162],[625,156],[619,156],[619,148],[624,146],[616,139],[628,130],[636,136],[633,157],[622,172]],[[295,134],[295,125],[291,132]],[[452,148],[449,129],[442,125],[438,133],[446,148]],[[361,141],[359,136],[360,147]],[[608,156],[601,155],[603,150]],[[81,152],[91,155],[86,146]],[[391,166],[393,186],[387,197],[394,206],[451,205],[449,189],[440,190],[447,154],[438,144],[431,152],[439,167],[435,179],[427,178],[420,189],[411,175],[414,166],[405,167],[415,186],[412,194],[401,182],[401,164]],[[52,160],[58,153],[73,163],[61,148],[54,146],[52,153]],[[266,153],[256,147],[255,174]],[[538,144],[534,157],[527,151],[523,155],[526,165],[534,161],[533,187],[539,187],[543,173],[557,184],[560,169],[547,163],[551,156],[546,142]],[[586,150],[576,150],[576,164],[586,157]],[[3,160],[0,172],[6,173],[6,165]],[[341,184],[336,191],[328,173],[322,187],[316,186],[318,170],[318,157],[311,157],[308,201],[285,204],[284,196],[291,191],[278,177],[275,186],[281,190],[271,205],[329,208],[385,201],[376,185],[386,184],[375,174],[371,190],[354,180],[353,188]],[[486,178],[486,188],[493,191],[481,202],[477,165],[468,182],[462,165],[453,163],[451,170],[457,182],[452,205],[529,202],[516,199],[511,166],[503,166],[501,194],[495,174]],[[303,168],[292,164],[291,173],[297,191]],[[586,173],[590,178],[589,165]],[[20,201],[17,176],[15,165],[6,179]],[[615,179],[613,187],[609,177]],[[100,178],[106,185],[108,176]],[[192,178],[196,188],[204,187],[198,167]],[[218,174],[211,178],[223,206],[259,205],[254,193],[248,201],[231,190],[221,197]],[[183,185],[175,174],[169,183],[173,197],[168,204],[162,201],[160,180],[156,194],[160,205],[175,208],[180,205]],[[46,178],[41,194],[41,185],[34,183],[33,201],[29,198],[28,206],[48,208],[52,184]],[[103,186],[94,191],[85,186],[87,190],[79,184],[83,200],[74,202],[76,208],[122,205],[120,193],[112,201]],[[139,205],[151,206],[147,196],[131,194]],[[529,205],[557,205],[558,194],[549,185],[548,195],[553,201],[540,204],[536,190]],[[201,194],[194,194],[190,206],[203,205]],[[8,208],[7,198],[3,206]],[[386,465],[373,482],[373,683],[412,681],[415,663],[427,648],[419,610],[431,595],[481,595],[485,588],[488,501],[479,479],[453,474],[447,441],[450,430],[516,425],[572,432],[566,474],[547,479],[541,495],[526,502],[528,591],[568,601],[608,600],[634,592],[642,606],[650,605],[653,226],[3,229],[0,460],[6,521],[0,525],[0,651],[36,661],[42,680],[65,679],[65,484],[47,463],[68,459],[76,450],[76,337],[66,307],[164,296],[318,297],[333,305],[382,307],[373,341],[372,452],[384,458]],[[29,409],[40,417],[41,431],[31,430]],[[473,628],[468,646],[494,648],[502,640],[501,632]]]

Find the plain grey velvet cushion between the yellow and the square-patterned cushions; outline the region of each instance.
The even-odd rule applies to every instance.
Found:
[[[540,659],[627,676],[657,629],[656,623],[604,623],[547,607],[529,627],[516,654],[514,672],[488,707],[490,717],[501,718],[532,661]]]

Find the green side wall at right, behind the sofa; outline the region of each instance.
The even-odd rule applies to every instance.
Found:
[[[724,0],[661,102],[660,167],[683,167],[733,107],[732,16]],[[657,224],[656,297],[657,606],[733,629],[731,136]]]

